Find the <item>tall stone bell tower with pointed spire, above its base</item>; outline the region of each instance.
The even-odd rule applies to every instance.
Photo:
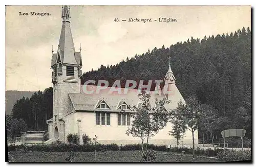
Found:
[[[62,28],[56,53],[52,50],[53,120],[60,120],[71,112],[69,92],[80,92],[82,75],[81,47],[75,52],[70,28],[70,8],[62,6]]]

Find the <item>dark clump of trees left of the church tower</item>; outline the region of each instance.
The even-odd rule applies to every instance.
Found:
[[[13,133],[17,133],[13,127],[25,122],[26,126],[18,127],[20,131],[25,130],[47,130],[48,126],[46,120],[52,118],[53,115],[53,96],[52,87],[47,88],[44,92],[33,92],[31,98],[23,97],[17,100],[12,108],[11,115],[7,116],[7,132],[10,132],[11,137]],[[17,120],[15,120],[17,119]],[[15,120],[15,121],[12,121]],[[26,128],[24,128],[26,127]],[[18,134],[18,133],[17,133]]]

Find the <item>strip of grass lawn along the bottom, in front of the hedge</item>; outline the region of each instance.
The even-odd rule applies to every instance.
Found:
[[[11,162],[66,162],[68,155],[74,155],[75,162],[95,162],[94,152],[9,152]],[[139,162],[140,151],[106,151],[96,152],[96,162]],[[157,151],[156,162],[180,162],[181,155],[171,155],[167,152]],[[184,156],[184,161],[192,160],[192,156]],[[217,159],[196,157],[196,162],[217,162]]]

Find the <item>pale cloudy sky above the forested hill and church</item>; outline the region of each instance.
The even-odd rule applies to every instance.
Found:
[[[75,49],[78,52],[81,43],[84,72],[191,36],[202,39],[251,28],[250,6],[70,6],[70,11]],[[50,15],[32,16],[30,12]],[[114,21],[164,17],[177,21]],[[52,86],[51,50],[53,45],[56,53],[61,21],[61,6],[6,7],[6,90],[37,91]]]

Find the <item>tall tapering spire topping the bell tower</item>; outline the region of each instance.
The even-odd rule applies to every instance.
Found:
[[[70,28],[70,8],[67,5],[62,6],[61,17],[62,28],[59,38],[58,55],[60,55],[60,60],[64,64],[80,65],[78,63],[80,57],[77,61],[75,56],[75,46]]]

